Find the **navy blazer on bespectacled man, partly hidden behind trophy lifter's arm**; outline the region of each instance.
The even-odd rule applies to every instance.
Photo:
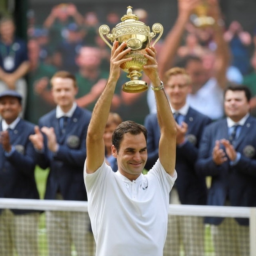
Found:
[[[205,205],[207,198],[205,177],[197,175],[194,164],[197,159],[201,134],[211,119],[190,107],[184,121],[188,124],[188,132],[186,143],[181,147],[176,147],[175,169],[178,177],[175,184],[182,204]],[[158,158],[160,128],[156,114],[147,115],[145,127],[148,131],[148,160],[145,168],[149,170]]]

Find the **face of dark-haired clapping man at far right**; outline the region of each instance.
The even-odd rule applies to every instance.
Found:
[[[233,121],[238,122],[250,110],[249,102],[244,91],[227,90],[224,100],[225,113]]]

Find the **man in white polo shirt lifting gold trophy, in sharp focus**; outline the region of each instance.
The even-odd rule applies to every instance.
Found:
[[[176,180],[176,123],[158,75],[156,51],[146,49],[144,73],[155,92],[161,130],[159,159],[143,175],[147,161],[147,130],[133,121],[121,123],[112,137],[118,171],[105,162],[103,134],[111,100],[120,76],[120,64],[130,48],[113,43],[109,79],[92,113],[86,138],[84,180],[88,211],[96,240],[96,255],[152,255],[163,253],[167,233],[169,192]]]

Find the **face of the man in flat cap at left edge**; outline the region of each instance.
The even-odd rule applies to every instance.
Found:
[[[4,96],[0,98],[0,115],[6,123],[12,123],[20,114],[22,107],[20,100],[12,96]]]

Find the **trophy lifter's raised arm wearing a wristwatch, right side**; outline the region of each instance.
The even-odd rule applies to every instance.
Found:
[[[150,78],[152,86],[157,88],[160,86],[161,81],[158,75],[156,50],[154,47],[152,47],[152,49],[148,48],[147,53],[145,57],[149,61],[147,65],[144,66],[144,72]],[[176,122],[164,90],[155,90],[154,95],[161,134],[159,141],[159,160],[164,170],[172,176],[174,174],[176,159]]]

